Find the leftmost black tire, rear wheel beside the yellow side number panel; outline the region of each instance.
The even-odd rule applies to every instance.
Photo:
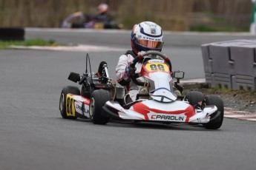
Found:
[[[80,90],[76,86],[65,86],[62,89],[62,93],[59,98],[59,111],[62,115],[62,118],[65,119],[76,119],[76,117],[67,116],[67,110],[66,110],[66,98],[68,93],[71,93],[73,95],[80,95]]]

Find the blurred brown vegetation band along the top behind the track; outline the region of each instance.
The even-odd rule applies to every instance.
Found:
[[[1,0],[0,27],[60,27],[76,11],[96,13],[100,3],[122,29],[154,21],[171,31],[249,32],[252,0]]]

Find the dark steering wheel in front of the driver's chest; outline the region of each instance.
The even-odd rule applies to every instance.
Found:
[[[170,71],[171,71],[171,61],[170,59],[167,57],[167,55],[165,55],[163,52],[159,52],[159,51],[147,51],[147,52],[143,52],[142,54],[139,53],[139,55],[137,55],[134,58],[134,61],[132,64],[130,64],[130,66],[132,68],[135,67],[135,64],[137,64],[138,61],[142,60],[144,58],[144,56],[146,55],[157,55],[160,58],[163,58],[163,60],[169,64],[170,66]],[[138,74],[135,74],[133,76],[131,76],[131,80],[134,82],[134,84],[138,85],[138,86],[144,86],[144,83],[137,81],[137,78],[139,77]]]

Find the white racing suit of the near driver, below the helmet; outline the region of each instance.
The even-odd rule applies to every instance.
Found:
[[[125,100],[124,100],[125,103],[130,103],[132,101],[135,101],[137,94],[142,89],[142,86],[137,86],[136,84],[134,84],[134,82],[131,81],[131,78],[129,78],[125,72],[125,68],[133,60],[134,60],[134,56],[126,52],[126,54],[121,55],[119,57],[119,61],[116,66],[116,80],[119,84],[121,84],[122,86],[125,86],[128,90],[128,93],[125,95]],[[137,68],[136,69],[137,71],[135,73],[140,72],[140,68],[142,67],[142,64],[138,62],[135,65],[135,67]]]

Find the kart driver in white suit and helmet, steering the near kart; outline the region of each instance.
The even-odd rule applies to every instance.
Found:
[[[116,80],[122,86],[125,86],[128,93],[125,95],[125,104],[136,100],[137,94],[145,92],[142,86],[137,86],[131,81],[131,76],[135,74],[136,68],[141,67],[141,63],[132,68],[130,64],[137,56],[138,52],[155,50],[162,51],[163,48],[163,30],[154,22],[143,21],[140,24],[135,24],[131,30],[131,49],[124,55],[119,57],[116,66]]]

